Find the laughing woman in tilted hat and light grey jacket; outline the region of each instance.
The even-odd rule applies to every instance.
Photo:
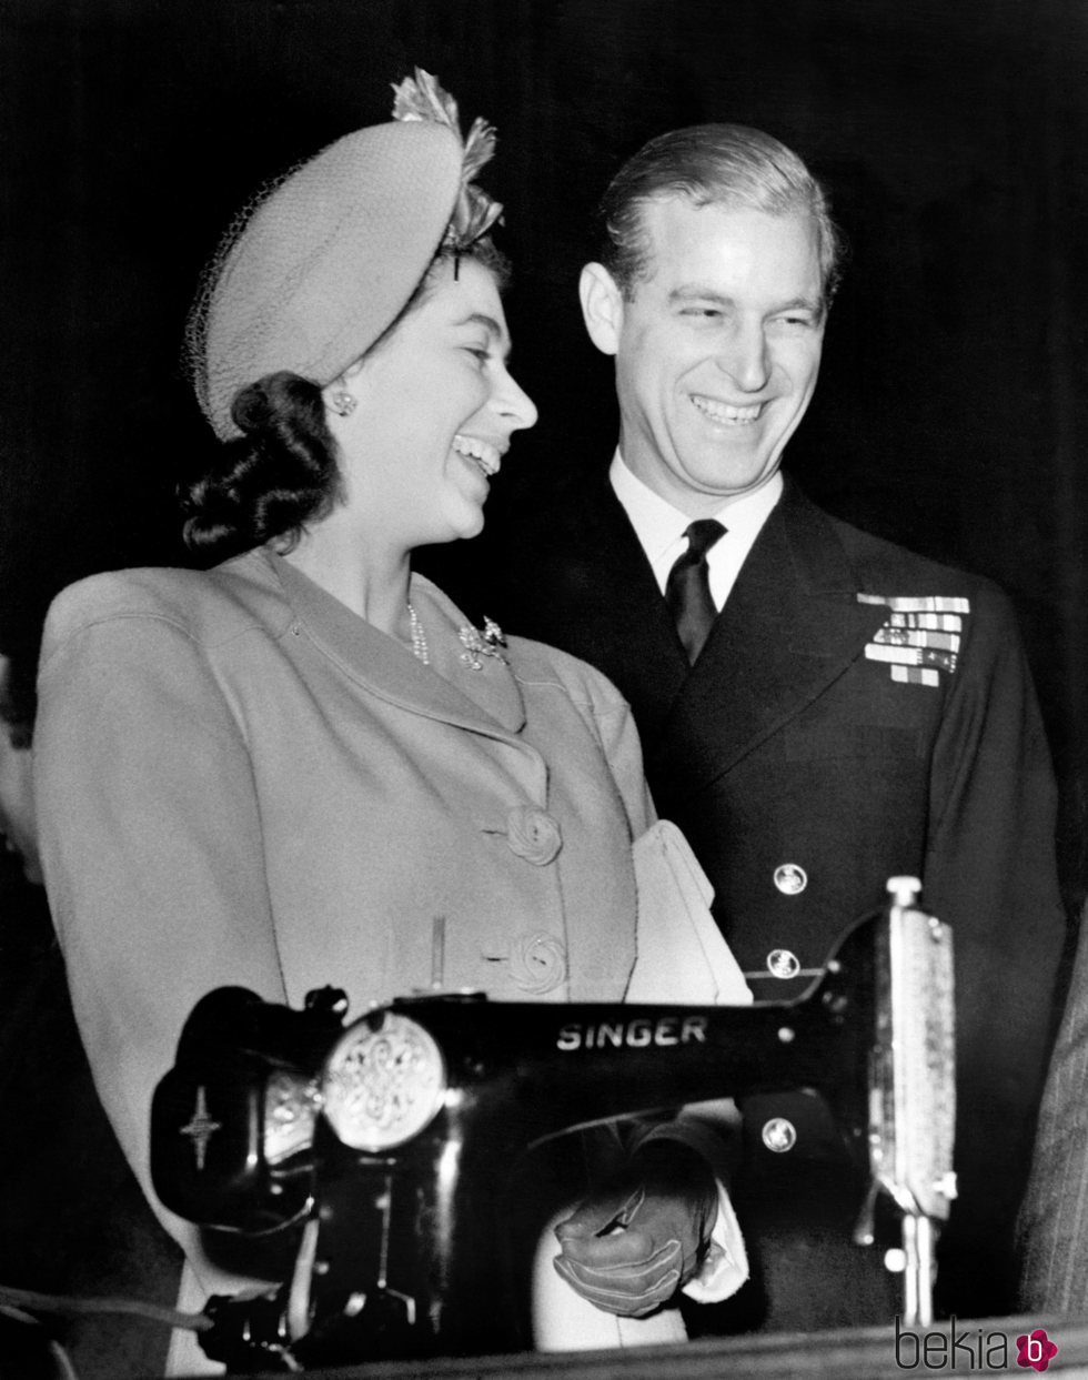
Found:
[[[334,983],[356,1012],[435,987],[620,1002],[635,976],[674,1000],[722,992],[696,929],[701,874],[654,824],[625,702],[572,657],[474,628],[413,573],[417,546],[480,530],[536,408],[507,368],[498,207],[472,182],[492,131],[476,121],[463,142],[456,105],[421,72],[394,113],[273,185],[206,276],[189,357],[222,444],[184,506],[186,540],[218,563],[83,581],[44,638],[50,904],[99,1096],[186,1252],[189,1307],[239,1279],[157,1203],[148,1122],[211,989],[298,1006]],[[670,858],[675,874],[650,875]],[[637,926],[670,915],[675,938],[639,943]],[[233,1112],[200,1108],[202,1126]],[[690,1118],[657,1126],[645,1156],[643,1136],[609,1133],[603,1151],[630,1151],[625,1181],[650,1166],[649,1220],[690,1268],[672,1270],[649,1228],[632,1234],[650,1259],[609,1323],[683,1286],[722,1299],[746,1272],[706,1158],[714,1136]],[[572,1156],[574,1201],[594,1201],[592,1163]],[[563,1256],[595,1256],[583,1235],[567,1231]],[[601,1249],[613,1264],[616,1242]],[[678,1311],[664,1314],[642,1340],[677,1334]],[[638,1340],[641,1319],[624,1321]],[[305,1328],[293,1318],[290,1340]],[[179,1346],[174,1365],[207,1362]]]

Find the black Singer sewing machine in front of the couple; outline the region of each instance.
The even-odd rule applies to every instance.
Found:
[[[162,1201],[243,1242],[289,1241],[282,1286],[208,1307],[232,1369],[515,1351],[498,1191],[573,1126],[812,1089],[902,1216],[903,1322],[932,1321],[933,1232],[954,1196],[947,926],[895,878],[798,1000],[744,1007],[396,1000],[344,1027],[222,988],[193,1010],[152,1115]],[[870,1202],[871,1206],[871,1202]],[[871,1241],[863,1212],[857,1239]],[[265,1275],[266,1278],[266,1275]]]

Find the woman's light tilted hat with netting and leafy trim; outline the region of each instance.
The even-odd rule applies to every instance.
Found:
[[[290,370],[324,386],[396,320],[443,241],[465,248],[501,207],[472,174],[494,131],[463,142],[457,105],[416,69],[395,119],[289,172],[228,232],[189,316],[189,367],[221,439],[239,389]]]

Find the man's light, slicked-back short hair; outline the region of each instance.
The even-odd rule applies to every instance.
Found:
[[[772,135],[743,124],[693,124],[657,135],[624,163],[598,207],[598,257],[627,298],[653,270],[643,208],[667,197],[768,215],[808,215],[816,232],[824,306],[830,305],[842,236],[824,189]]]

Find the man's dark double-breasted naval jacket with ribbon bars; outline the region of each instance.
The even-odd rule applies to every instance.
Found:
[[[1065,929],[1052,769],[1008,600],[787,482],[689,667],[605,472],[512,508],[492,519],[486,611],[591,661],[631,702],[657,809],[706,868],[757,1000],[799,995],[892,875],[920,876],[924,908],[953,926],[960,1201],[938,1305],[1008,1311]],[[741,1325],[889,1321],[891,1281],[844,1285],[823,1263],[837,1253],[849,1275],[875,1259],[849,1242],[860,1188],[823,1212],[842,1183],[826,1108],[764,1097],[746,1112],[741,1221],[746,1176],[777,1221],[754,1242],[768,1299]]]

